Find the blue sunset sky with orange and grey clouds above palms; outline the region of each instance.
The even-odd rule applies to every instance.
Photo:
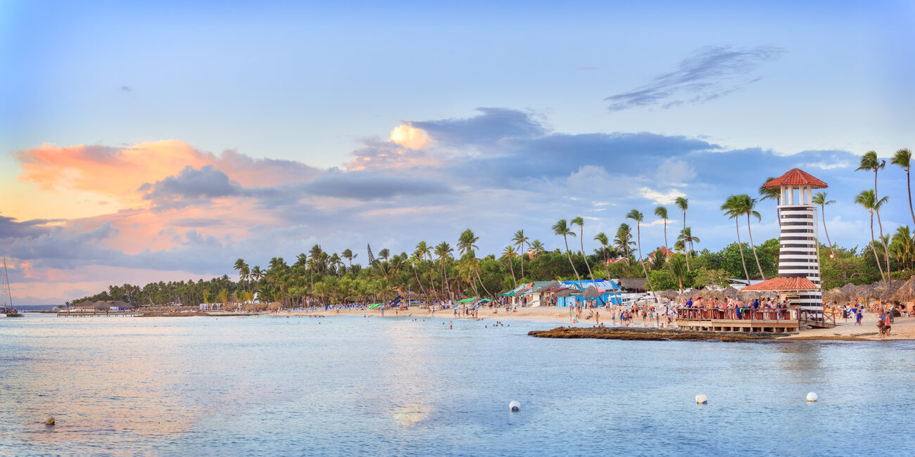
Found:
[[[915,147],[913,26],[911,2],[3,0],[0,252],[15,303],[62,303],[314,244],[556,249],[578,216],[591,251],[632,208],[647,251],[676,197],[715,250],[727,196],[794,167],[864,246],[858,157]],[[885,231],[906,185],[879,174]]]

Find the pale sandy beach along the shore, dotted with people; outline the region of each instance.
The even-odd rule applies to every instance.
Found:
[[[382,317],[381,311],[377,310],[318,310],[318,311],[293,311],[293,312],[280,312],[280,315],[315,315],[322,317],[333,317],[336,315],[368,315],[371,317]],[[472,319],[468,316],[455,317],[452,314],[451,310],[436,311],[435,314],[428,314],[425,309],[420,308],[411,308],[408,311],[394,312],[393,310],[386,310],[383,317],[394,317],[394,316],[404,316],[409,315],[412,317],[423,318],[423,317],[435,317],[439,319],[460,319],[460,320],[469,320]],[[601,322],[607,326],[611,326],[608,317],[609,314],[601,311],[600,312]],[[512,321],[512,320],[525,320],[525,321],[539,321],[544,324],[569,324],[569,312],[568,308],[555,308],[555,307],[536,307],[536,308],[518,308],[517,312],[506,313],[504,309],[490,310],[490,309],[481,309],[479,311],[479,319],[483,322],[495,322],[495,321]],[[592,320],[579,319],[579,326],[587,325],[593,323]],[[594,323],[595,325],[597,323]],[[798,335],[783,336],[779,339],[785,340],[845,340],[845,341],[899,341],[899,340],[915,340],[915,317],[900,316],[897,317],[893,323],[892,330],[889,336],[881,338],[877,331],[877,317],[874,314],[865,314],[864,318],[861,321],[861,325],[855,325],[854,319],[839,320],[838,324],[834,328],[815,328],[815,329],[804,329]],[[641,327],[641,318],[636,318],[633,320],[633,327]],[[653,327],[653,323],[648,326]],[[544,326],[544,329],[547,326]]]

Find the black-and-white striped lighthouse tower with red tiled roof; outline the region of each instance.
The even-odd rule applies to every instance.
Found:
[[[819,219],[812,200],[813,189],[823,189],[827,185],[800,168],[794,168],[765,186],[780,189],[779,277],[806,278],[813,282],[817,290],[798,292],[798,304],[802,309],[822,313]]]

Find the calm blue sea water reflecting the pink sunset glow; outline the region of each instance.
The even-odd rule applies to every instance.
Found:
[[[554,340],[525,335],[550,324],[483,325],[0,320],[0,453],[915,452],[915,343]],[[819,402],[804,401],[811,390]]]

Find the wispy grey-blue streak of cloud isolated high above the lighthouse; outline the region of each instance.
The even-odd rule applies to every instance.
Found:
[[[655,76],[648,84],[604,99],[608,109],[662,108],[715,100],[760,80],[753,75],[763,62],[779,58],[782,48],[708,46],[696,49],[676,69]]]

